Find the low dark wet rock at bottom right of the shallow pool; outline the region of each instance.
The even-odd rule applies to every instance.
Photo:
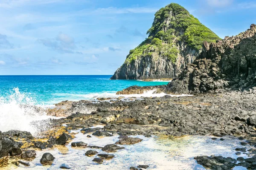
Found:
[[[198,164],[212,170],[232,170],[236,166],[236,159],[223,156],[197,156],[194,158]]]

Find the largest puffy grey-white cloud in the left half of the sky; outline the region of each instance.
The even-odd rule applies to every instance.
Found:
[[[38,39],[38,42],[60,53],[83,54],[74,50],[76,49],[74,39],[67,34],[59,33],[55,39]]]

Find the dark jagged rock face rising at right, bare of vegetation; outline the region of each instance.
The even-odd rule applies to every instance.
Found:
[[[203,51],[179,78],[168,84],[169,94],[193,94],[246,89],[256,86],[256,25],[216,43],[204,42]]]

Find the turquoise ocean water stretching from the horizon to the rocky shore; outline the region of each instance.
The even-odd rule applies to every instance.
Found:
[[[114,96],[116,91],[131,85],[168,84],[168,82],[110,80],[110,77],[111,75],[0,76],[0,97],[8,99],[10,95],[18,92],[32,99],[37,105],[52,105],[64,100]],[[20,94],[18,97],[21,96]]]

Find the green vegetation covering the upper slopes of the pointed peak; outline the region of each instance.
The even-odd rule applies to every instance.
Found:
[[[137,58],[151,56],[153,53],[176,62],[177,42],[186,42],[191,48],[200,50],[204,41],[221,40],[214,32],[189,14],[182,6],[171,3],[156,12],[152,27],[147,31],[148,38],[130,51],[125,63]]]

